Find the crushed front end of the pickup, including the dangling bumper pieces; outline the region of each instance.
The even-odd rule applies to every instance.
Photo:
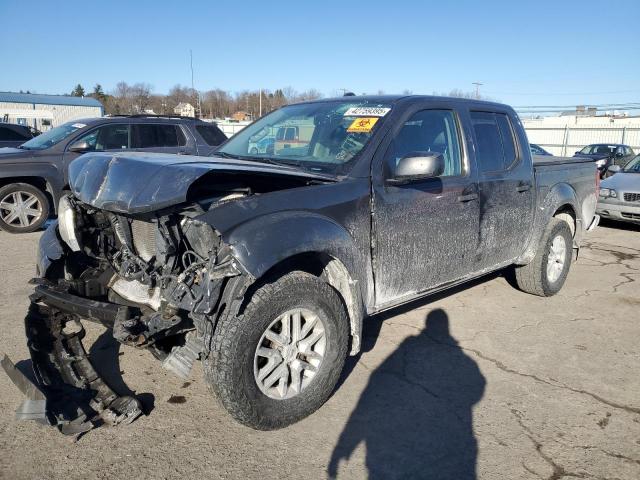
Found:
[[[78,434],[142,413],[136,398],[114,392],[91,364],[81,320],[189,375],[208,351],[218,316],[239,302],[250,277],[215,229],[197,220],[202,213],[193,204],[132,216],[62,198],[58,221],[40,240],[25,319],[37,385],[2,362],[27,396],[19,418]]]

